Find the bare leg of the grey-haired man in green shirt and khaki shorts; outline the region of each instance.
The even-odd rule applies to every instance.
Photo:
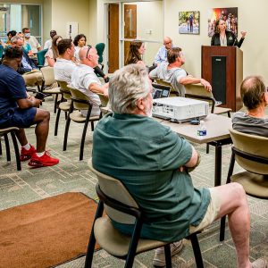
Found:
[[[214,188],[221,197],[221,209],[218,219],[228,214],[231,237],[237,251],[238,267],[251,267],[249,261],[250,216],[247,196],[239,183],[229,183]]]

